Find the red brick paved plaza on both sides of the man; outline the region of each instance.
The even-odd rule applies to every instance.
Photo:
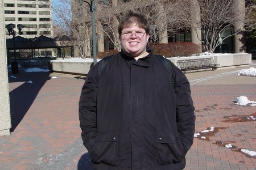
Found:
[[[249,67],[256,65],[186,74],[196,108],[196,132],[201,135],[186,156],[185,169],[256,167],[256,158],[241,152],[256,151],[256,123],[247,118],[256,117],[256,107],[234,102],[242,95],[256,100],[256,78],[237,75]],[[9,71],[13,128],[11,135],[0,137],[0,169],[88,169],[82,168],[88,155],[80,138],[77,105],[83,78],[25,73],[24,68],[15,75]],[[201,133],[212,126],[213,131]]]

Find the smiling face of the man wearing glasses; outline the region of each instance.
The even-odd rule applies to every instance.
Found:
[[[123,52],[129,53],[132,57],[142,58],[147,56],[146,46],[149,35],[137,24],[124,28],[119,36]]]

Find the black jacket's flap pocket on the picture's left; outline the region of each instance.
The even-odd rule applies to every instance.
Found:
[[[117,165],[117,138],[116,132],[98,133],[95,143],[89,150],[92,162]]]

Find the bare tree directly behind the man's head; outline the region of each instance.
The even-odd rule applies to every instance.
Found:
[[[141,12],[151,25],[150,41],[159,43],[176,31],[187,28],[185,20],[189,18],[189,6],[181,0],[175,1],[118,1],[118,5],[108,2],[97,6],[97,19],[102,24],[105,38],[110,40],[115,48],[121,50],[118,41],[118,21],[130,11]],[[166,41],[167,43],[167,41]]]

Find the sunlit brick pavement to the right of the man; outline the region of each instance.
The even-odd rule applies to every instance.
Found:
[[[256,65],[254,65],[255,67]],[[256,78],[237,75],[241,67],[187,74],[195,103],[196,132],[185,169],[252,169],[256,158],[242,148],[256,151],[256,107],[234,103],[239,96],[256,100]],[[203,130],[214,131],[201,133]],[[201,137],[206,137],[202,139]],[[226,144],[232,148],[226,148]]]

